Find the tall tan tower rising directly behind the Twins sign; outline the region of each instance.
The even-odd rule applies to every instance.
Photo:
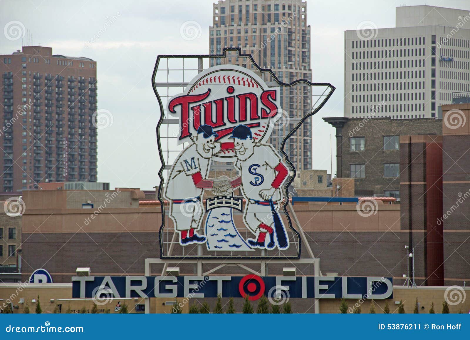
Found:
[[[213,5],[213,26],[209,32],[211,54],[221,54],[224,47],[240,47],[242,54],[251,54],[260,67],[270,68],[285,83],[297,79],[312,80],[310,26],[307,25],[305,1],[219,1]],[[246,58],[231,55],[211,58],[211,66],[231,63],[254,68]],[[263,77],[266,83],[273,81],[266,79],[266,75]],[[301,119],[312,107],[310,87],[282,90],[281,105],[289,113],[290,125],[273,131],[270,142],[278,150],[283,136],[295,126],[294,119]],[[289,138],[284,150],[297,169],[312,169],[311,119]]]

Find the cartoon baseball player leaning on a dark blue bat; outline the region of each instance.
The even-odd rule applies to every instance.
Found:
[[[257,234],[248,239],[252,248],[279,249],[289,246],[286,230],[282,225],[276,206],[282,199],[281,185],[288,175],[287,167],[271,145],[261,144],[253,139],[251,129],[243,124],[233,129],[231,135],[237,161],[235,167],[241,176],[231,181],[233,187],[241,182],[243,196],[247,200],[243,221],[248,229]],[[265,245],[266,236],[269,243]]]

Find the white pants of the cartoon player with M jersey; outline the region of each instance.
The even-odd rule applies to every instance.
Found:
[[[177,231],[199,229],[203,216],[204,207],[201,200],[170,204],[170,217]]]

